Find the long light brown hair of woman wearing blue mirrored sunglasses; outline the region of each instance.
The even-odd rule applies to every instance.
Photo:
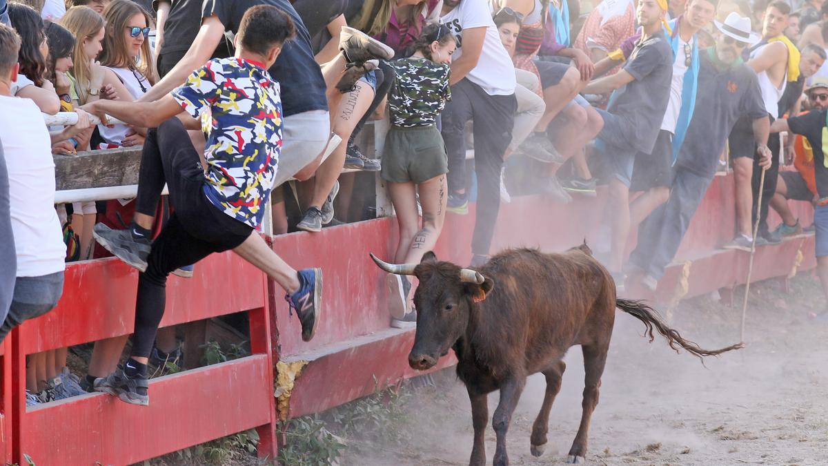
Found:
[[[139,56],[128,55],[127,40],[123,32],[129,26],[127,23],[130,18],[135,15],[142,15],[147,22],[147,27],[150,26],[149,15],[137,3],[130,0],[114,0],[109,3],[103,10],[106,34],[103,36],[103,51],[98,58],[103,66],[137,70],[152,83],[152,52],[150,52],[149,37],[144,37]]]

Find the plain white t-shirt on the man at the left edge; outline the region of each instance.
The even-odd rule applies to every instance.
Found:
[[[0,95],[0,140],[8,167],[17,276],[60,272],[66,245],[55,211],[55,162],[43,115],[33,101]]]

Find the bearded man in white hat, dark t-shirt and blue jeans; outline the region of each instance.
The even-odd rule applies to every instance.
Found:
[[[655,291],[667,265],[676,255],[696,208],[713,181],[719,156],[734,124],[752,122],[752,143],[761,167],[770,166],[768,112],[758,78],[740,55],[758,36],[750,19],[732,12],[715,22],[719,33],[714,47],[699,53],[696,109],[673,167],[672,191],[666,204],[647,216],[638,228],[638,245],[629,256],[628,284],[638,280]]]

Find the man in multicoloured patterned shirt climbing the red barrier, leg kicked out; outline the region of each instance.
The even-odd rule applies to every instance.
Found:
[[[156,102],[98,100],[86,107],[104,120],[110,114],[127,124],[152,128],[143,147],[130,228],[95,226],[101,245],[142,271],[132,357],[108,377],[94,381],[96,391],[148,405],[147,358],[164,313],[166,277],[214,252],[233,250],[275,279],[301,321],[302,339],[314,336],[321,269],[296,272],[255,231],[274,186],[282,148],[279,85],[267,68],[294,33],[291,17],[280,8],[250,7],[238,23],[234,57],[208,61],[185,85]],[[205,130],[206,172],[185,124],[201,124]],[[151,242],[149,228],[165,182],[176,211]]]

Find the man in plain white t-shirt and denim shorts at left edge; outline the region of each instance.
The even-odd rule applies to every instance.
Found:
[[[89,117],[78,112],[78,124],[49,133],[34,102],[12,96],[17,80],[17,53],[21,39],[12,28],[0,26],[0,139],[7,164],[9,206],[17,273],[12,304],[0,327],[0,342],[12,328],[55,307],[63,289],[66,246],[55,211],[55,163],[51,143],[89,129]],[[54,362],[47,366],[46,352],[31,355],[26,386],[52,400]],[[58,378],[60,380],[60,378]],[[50,390],[47,390],[50,389]],[[35,399],[31,399],[36,402]]]

